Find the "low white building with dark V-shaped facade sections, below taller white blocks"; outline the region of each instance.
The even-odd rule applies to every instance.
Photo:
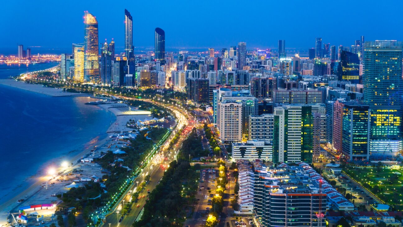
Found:
[[[265,160],[270,162],[273,145],[269,141],[249,140],[246,143],[232,143],[232,157],[234,160]]]

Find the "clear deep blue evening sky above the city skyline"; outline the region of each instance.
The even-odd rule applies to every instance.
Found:
[[[100,42],[124,46],[124,10],[134,20],[135,47],[154,47],[154,29],[166,33],[166,47],[314,47],[366,40],[402,40],[403,2],[388,1],[37,1],[2,2],[0,49],[24,46],[66,48],[83,41],[83,12],[97,17]],[[1,53],[1,52],[0,52]]]

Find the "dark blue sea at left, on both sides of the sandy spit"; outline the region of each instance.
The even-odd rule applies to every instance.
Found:
[[[42,63],[15,69],[15,65],[0,65],[0,79],[53,66]],[[0,204],[28,188],[49,168],[106,138],[116,117],[85,104],[96,100],[50,97],[0,85]]]

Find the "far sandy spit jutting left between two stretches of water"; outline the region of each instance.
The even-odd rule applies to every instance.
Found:
[[[28,84],[25,82],[19,82],[17,80],[12,79],[0,79],[0,84],[4,86],[9,86],[13,88],[19,88],[22,90],[35,92],[39,94],[44,94],[47,96],[89,96],[90,94],[85,93],[72,93],[72,92],[64,92],[62,89],[57,88],[48,88],[44,87],[40,84]]]

